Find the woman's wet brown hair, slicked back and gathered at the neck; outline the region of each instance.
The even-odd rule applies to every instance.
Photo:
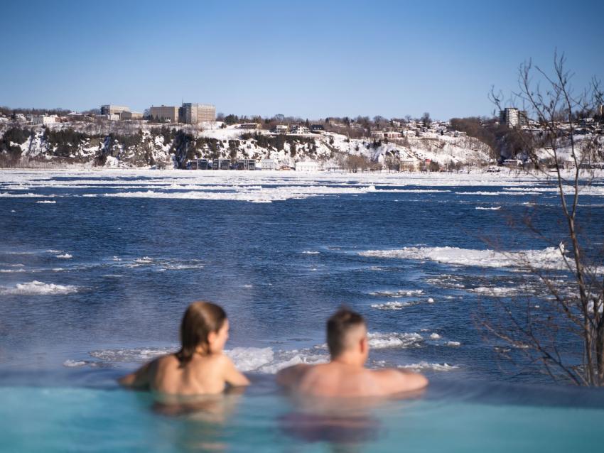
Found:
[[[225,320],[225,310],[212,302],[198,301],[189,305],[180,323],[180,351],[176,353],[180,364],[187,364],[198,346],[207,354],[210,351],[207,336],[218,332]]]

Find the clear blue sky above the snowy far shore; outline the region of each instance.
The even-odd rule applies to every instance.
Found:
[[[0,105],[436,119],[566,53],[604,78],[604,1],[2,0]]]

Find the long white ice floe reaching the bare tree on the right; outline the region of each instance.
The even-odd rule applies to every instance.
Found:
[[[536,267],[568,270],[563,251],[563,246],[524,251],[460,249],[458,247],[404,247],[396,250],[367,250],[359,252],[359,255],[372,258],[436,261],[456,266]]]

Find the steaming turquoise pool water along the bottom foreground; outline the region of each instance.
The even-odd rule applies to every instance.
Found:
[[[244,395],[226,395],[203,410],[158,407],[149,393],[109,381],[97,387],[7,384],[0,387],[0,450],[595,451],[604,434],[603,399],[598,391],[569,388],[436,382],[416,399],[316,415],[304,413],[266,377],[257,377]]]

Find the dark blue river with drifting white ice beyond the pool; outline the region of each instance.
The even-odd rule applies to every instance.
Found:
[[[581,203],[601,247],[603,178]],[[512,222],[536,208],[547,241]],[[260,381],[325,361],[325,319],[344,304],[367,318],[369,366],[436,388],[549,382],[478,328],[479,306],[546,297],[522,263],[563,266],[543,178],[1,170],[0,213],[0,385],[111,387],[176,347],[193,300],[225,307],[228,353]]]

